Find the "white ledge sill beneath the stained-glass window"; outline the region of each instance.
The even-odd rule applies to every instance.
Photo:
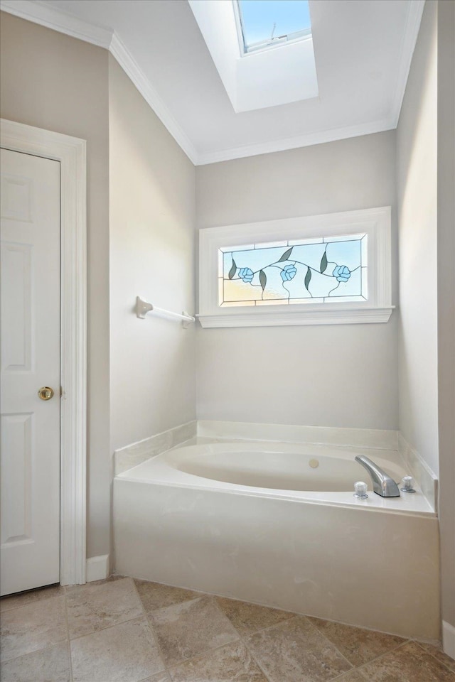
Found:
[[[336,308],[336,310],[238,310],[232,313],[196,315],[200,326],[211,327],[287,327],[288,325],[368,325],[386,323],[395,305],[387,308]]]

